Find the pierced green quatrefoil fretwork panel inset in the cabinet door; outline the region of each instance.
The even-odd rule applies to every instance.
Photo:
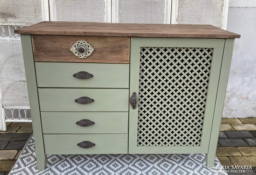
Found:
[[[140,48],[138,146],[200,146],[213,48]]]

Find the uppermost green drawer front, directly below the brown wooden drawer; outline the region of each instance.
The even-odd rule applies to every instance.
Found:
[[[38,87],[129,88],[129,64],[35,62]],[[91,78],[73,77],[80,71]]]

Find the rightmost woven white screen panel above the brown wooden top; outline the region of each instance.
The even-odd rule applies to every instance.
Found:
[[[227,0],[174,0],[173,24],[209,24],[222,28],[227,15]],[[224,9],[226,8],[226,9]],[[226,25],[226,24],[225,24]]]

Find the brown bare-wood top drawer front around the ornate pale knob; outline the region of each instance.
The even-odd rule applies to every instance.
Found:
[[[84,59],[69,50],[80,40],[94,48],[92,54]],[[129,63],[129,37],[32,35],[32,43],[36,62]]]

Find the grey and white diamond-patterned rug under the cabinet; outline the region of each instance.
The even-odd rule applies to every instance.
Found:
[[[221,166],[217,157],[215,166]],[[209,170],[204,154],[48,155],[47,166],[37,170],[33,135],[9,175],[227,175]]]

